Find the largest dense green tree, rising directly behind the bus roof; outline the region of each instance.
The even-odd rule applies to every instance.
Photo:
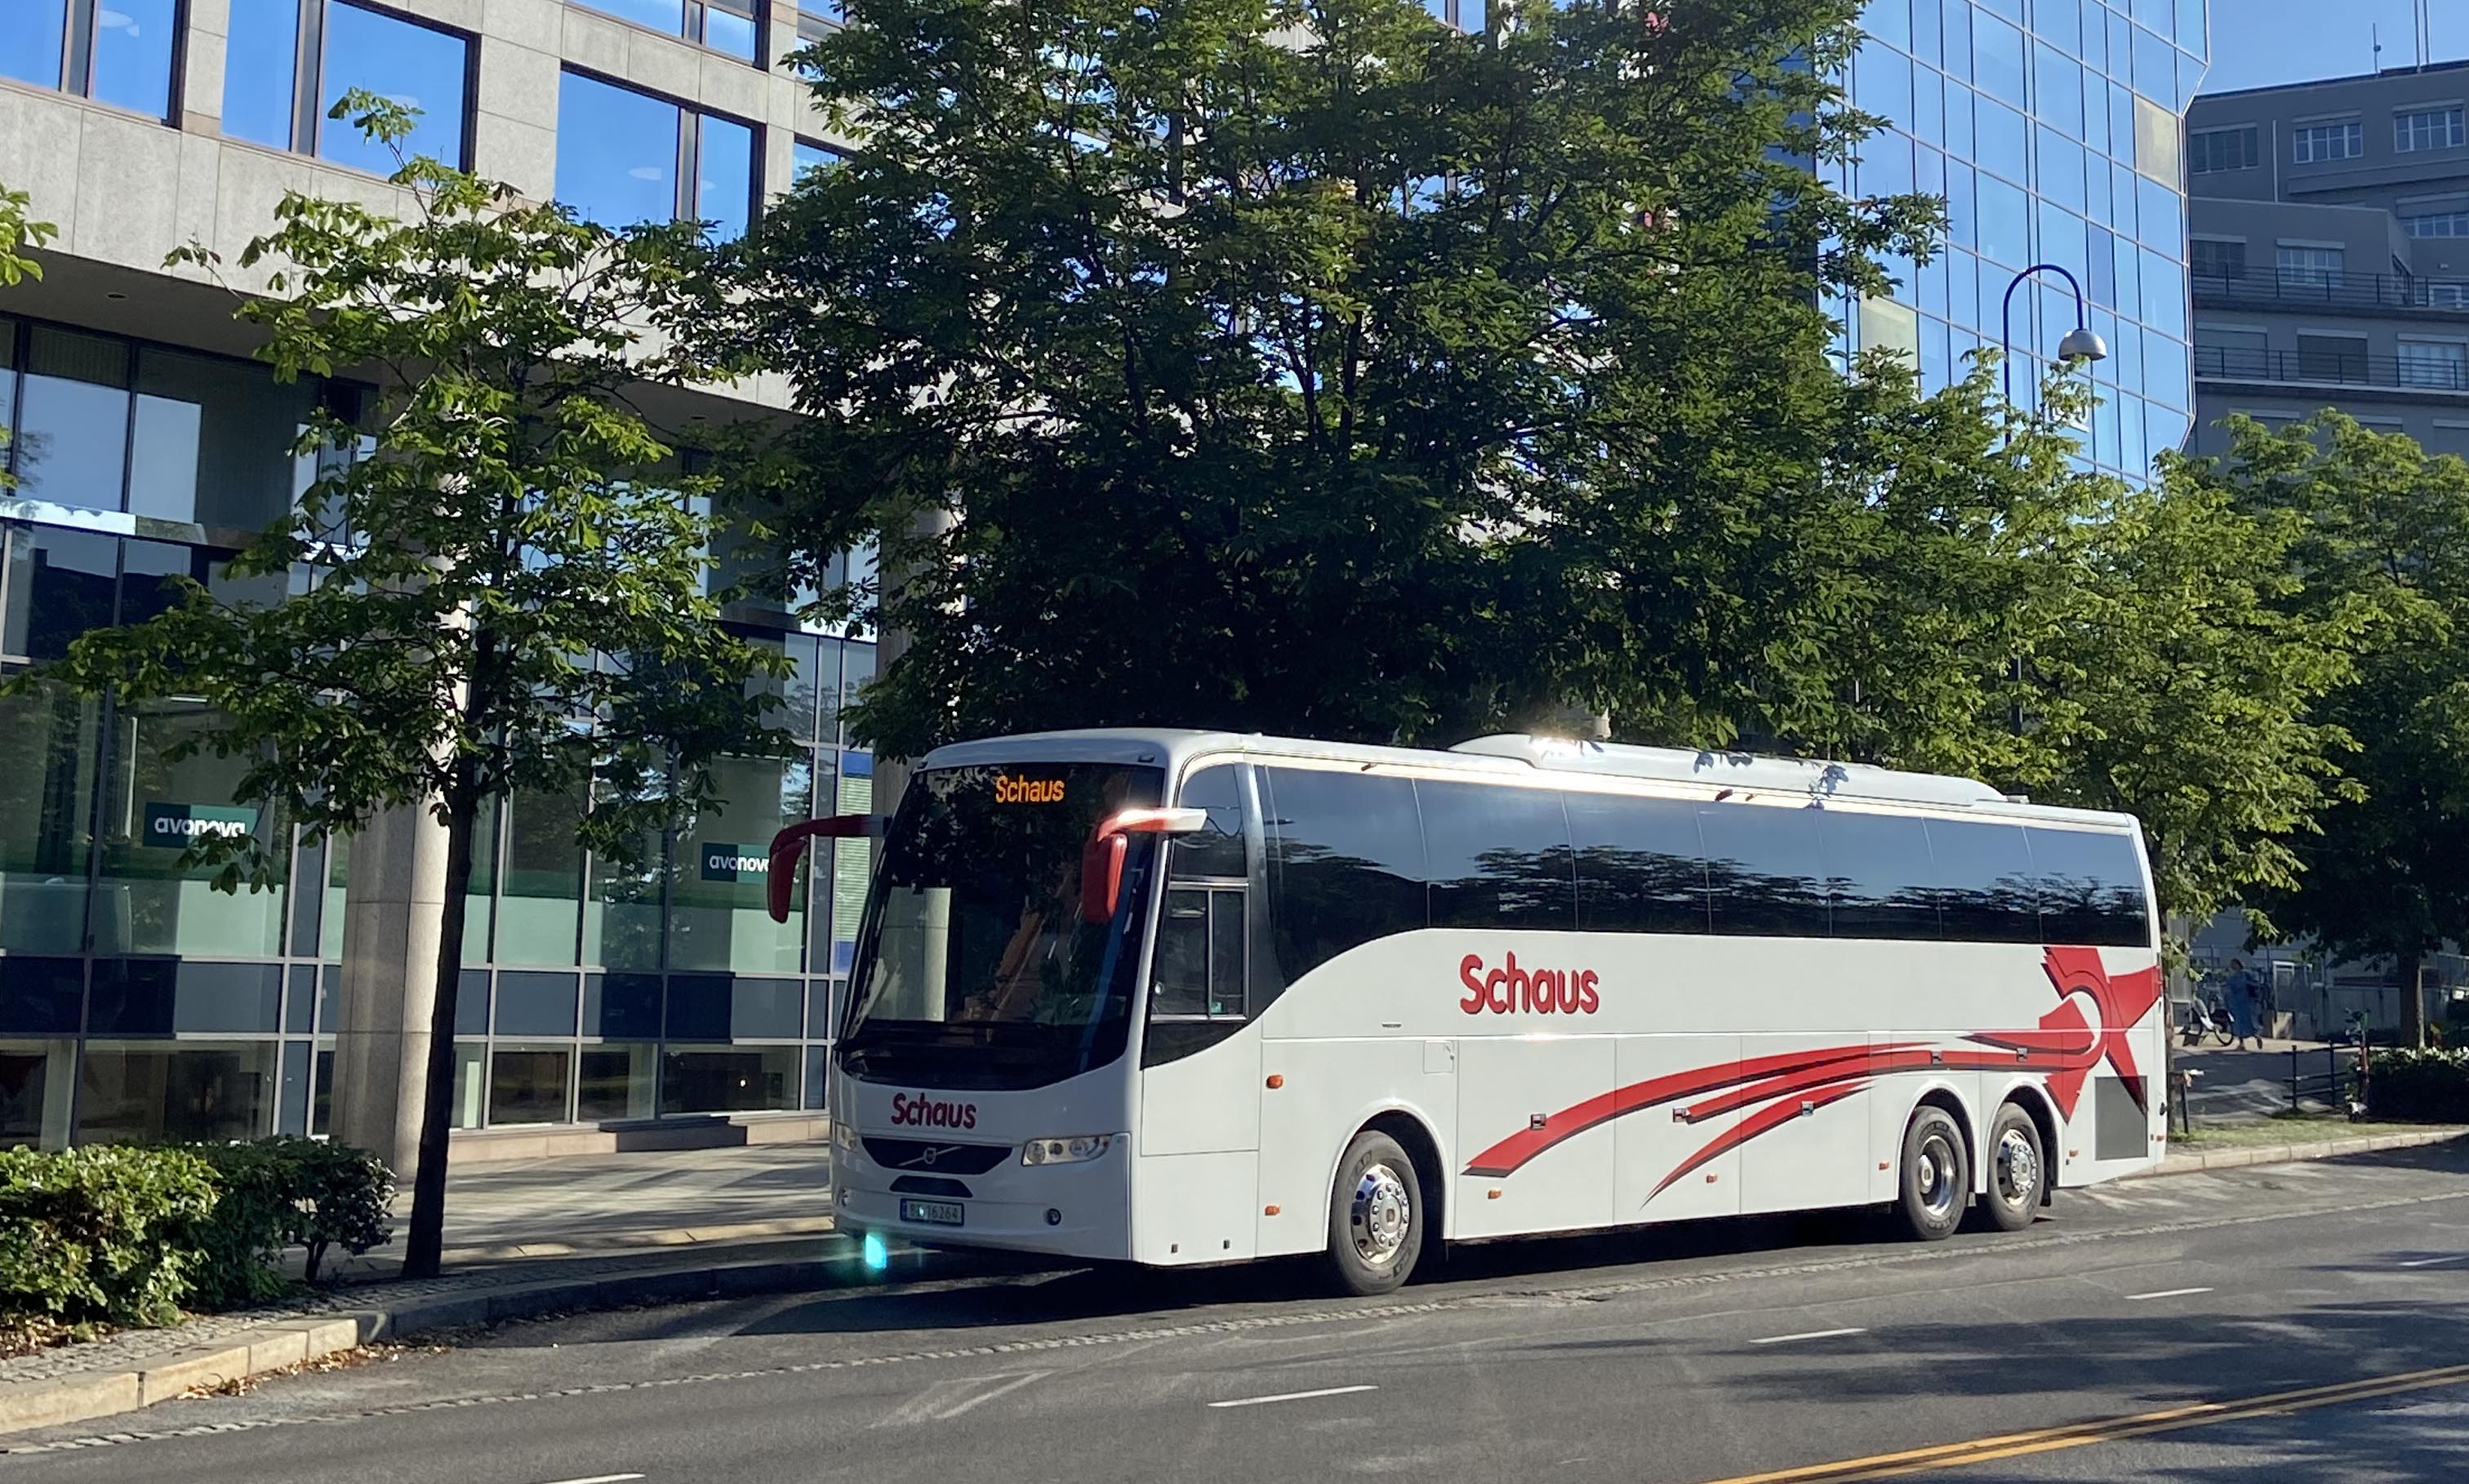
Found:
[[[857,0],[805,64],[864,148],[733,331],[817,415],[765,523],[909,575],[867,736],[1830,706],[1795,563],[1911,393],[1822,304],[1936,222],[1805,165],[1867,126],[1852,10]]]

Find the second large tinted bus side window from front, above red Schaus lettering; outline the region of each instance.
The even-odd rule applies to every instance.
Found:
[[[1417,783],[1434,928],[1578,926],[1568,812],[1558,793]]]

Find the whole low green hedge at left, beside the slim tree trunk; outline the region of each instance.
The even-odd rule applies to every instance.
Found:
[[[328,1249],[385,1244],[393,1195],[368,1151],[299,1136],[0,1151],[0,1316],[128,1326],[262,1304],[291,1286],[289,1247],[316,1282]]]

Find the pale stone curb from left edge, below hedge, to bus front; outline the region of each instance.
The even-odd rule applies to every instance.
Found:
[[[627,1304],[689,1304],[696,1299],[746,1299],[797,1294],[837,1282],[839,1257],[716,1262],[612,1277],[541,1279],[479,1294],[420,1294],[400,1304],[338,1309],[333,1314],[269,1321],[217,1341],[148,1356],[138,1368],[91,1370],[59,1380],[0,1385],[0,1435],[86,1422],[168,1403],[195,1385],[227,1385],[301,1361],[356,1351],[370,1341],[407,1338],[472,1324],[504,1324],[578,1309]],[[5,1449],[0,1449],[5,1452]]]

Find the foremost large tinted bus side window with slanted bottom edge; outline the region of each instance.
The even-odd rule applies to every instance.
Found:
[[[1286,983],[1338,953],[1430,923],[1415,785],[1365,773],[1262,773],[1269,928]]]

